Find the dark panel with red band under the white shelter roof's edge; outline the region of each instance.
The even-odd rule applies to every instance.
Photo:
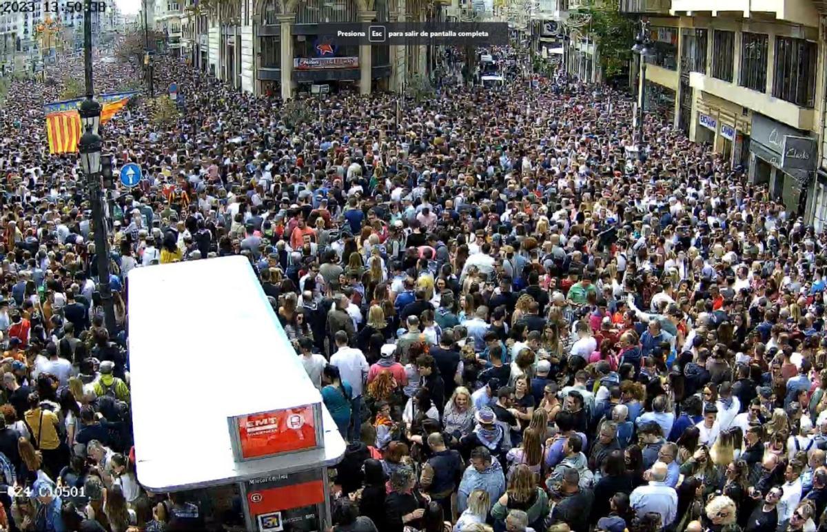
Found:
[[[246,505],[253,530],[322,530],[324,490],[321,469],[256,478],[245,482]]]

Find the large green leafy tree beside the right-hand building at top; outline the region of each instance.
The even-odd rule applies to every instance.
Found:
[[[596,37],[604,77],[621,74],[632,58],[634,22],[620,12],[617,0],[590,2],[580,11],[591,15],[591,32]]]

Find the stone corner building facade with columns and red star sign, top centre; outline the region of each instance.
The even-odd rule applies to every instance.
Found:
[[[422,0],[238,0],[209,9],[184,7],[182,49],[199,69],[233,87],[291,98],[310,92],[402,90],[428,71],[426,46],[340,46],[319,23],[446,20],[457,6]],[[442,12],[442,8],[445,11]],[[441,18],[440,18],[441,17]],[[435,62],[435,61],[434,61]]]

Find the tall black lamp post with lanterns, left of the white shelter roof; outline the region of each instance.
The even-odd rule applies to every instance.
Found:
[[[112,306],[112,290],[109,287],[109,249],[107,225],[103,216],[103,188],[101,186],[101,148],[99,135],[101,104],[93,98],[92,84],[92,8],[86,0],[84,9],[84,62],[86,74],[86,99],[80,104],[80,122],[84,134],[78,144],[80,167],[88,181],[89,197],[92,199],[92,219],[95,237],[95,259],[98,261],[98,292],[101,295],[103,314],[109,333],[116,330],[115,309]]]

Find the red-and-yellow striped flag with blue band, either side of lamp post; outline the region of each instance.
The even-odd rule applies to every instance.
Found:
[[[102,103],[101,124],[105,124],[120,111],[131,96],[137,92],[101,94],[98,102]],[[85,98],[66,100],[65,102],[46,103],[46,137],[49,139],[49,152],[74,153],[78,151],[81,135],[80,114],[78,109]]]

